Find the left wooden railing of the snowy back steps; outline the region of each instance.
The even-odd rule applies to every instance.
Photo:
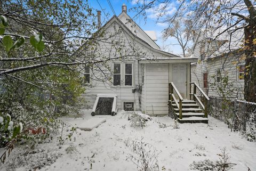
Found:
[[[179,97],[179,103],[178,103],[176,97],[174,96],[174,91]],[[171,104],[172,104],[172,101],[174,101],[176,103],[176,105],[179,109],[179,118],[182,119],[182,101],[183,101],[183,98],[180,95],[178,89],[176,88],[176,86],[174,85],[173,82],[169,83],[169,100],[171,100]]]

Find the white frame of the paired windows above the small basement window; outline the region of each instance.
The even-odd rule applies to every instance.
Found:
[[[120,72],[121,72],[121,85],[114,85],[114,65],[120,64]],[[132,74],[125,74],[125,64],[132,64]],[[132,85],[125,85],[125,75],[132,75]],[[113,63],[113,87],[132,87],[134,86],[134,62],[114,62]]]

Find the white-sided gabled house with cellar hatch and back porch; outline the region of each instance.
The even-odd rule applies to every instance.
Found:
[[[118,17],[114,15],[99,30],[108,36],[94,44],[97,47],[93,47],[96,56],[93,60],[111,60],[100,66],[85,67],[85,79],[91,86],[83,95],[87,108],[93,107],[97,94],[114,94],[118,109],[167,115],[169,84],[173,82],[183,99],[189,99],[190,63],[197,59],[161,51],[153,40],[154,32],[148,31],[148,35],[126,11],[123,5],[122,13]],[[91,46],[87,49],[91,50]]]

